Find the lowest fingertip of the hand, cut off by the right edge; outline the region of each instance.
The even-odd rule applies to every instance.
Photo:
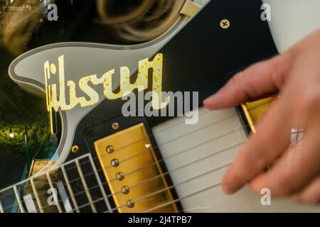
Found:
[[[316,177],[310,184],[308,184],[301,192],[294,196],[295,201],[306,204],[320,203],[320,176]]]

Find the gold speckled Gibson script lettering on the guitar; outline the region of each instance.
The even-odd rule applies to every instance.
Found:
[[[98,78],[97,74],[92,74],[87,77],[82,77],[78,86],[84,92],[89,99],[83,96],[78,97],[76,94],[76,84],[73,80],[68,80],[66,85],[69,89],[69,103],[67,104],[65,96],[65,64],[64,55],[58,57],[58,77],[59,84],[48,84],[53,74],[57,73],[57,68],[54,64],[50,64],[49,61],[44,64],[44,73],[46,81],[46,103],[47,110],[50,113],[50,122],[52,126],[52,111],[68,111],[78,104],[82,107],[92,106],[97,104],[100,99],[100,95],[95,91],[93,87],[90,87],[88,82],[91,82],[94,86],[103,85],[103,93],[106,99],[121,99],[123,96],[127,96],[134,89],[142,91],[148,89],[148,74],[149,69],[152,69],[152,90],[155,92],[156,97],[152,97],[152,107],[154,109],[162,109],[169,104],[169,97],[166,97],[166,101],[161,101],[162,90],[162,66],[163,55],[159,53],[154,57],[154,60],[149,61],[148,58],[139,61],[139,71],[136,82],[130,83],[130,70],[128,67],[120,67],[120,86],[119,92],[116,94],[112,91],[112,77],[115,70],[107,71],[102,77]],[[59,87],[59,89],[57,89]],[[59,95],[58,92],[59,91]],[[53,132],[53,127],[51,127]]]

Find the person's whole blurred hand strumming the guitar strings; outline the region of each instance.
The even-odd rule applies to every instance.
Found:
[[[279,96],[225,173],[223,191],[233,194],[249,183],[259,194],[269,188],[272,196],[293,194],[298,201],[319,203],[320,31],[236,74],[204,105],[224,109],[271,94]],[[292,145],[292,131],[297,130],[304,131],[303,138]]]

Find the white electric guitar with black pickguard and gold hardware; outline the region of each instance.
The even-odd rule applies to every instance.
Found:
[[[187,2],[185,10],[195,13],[198,6]],[[46,94],[60,141],[52,160],[33,160],[30,178],[0,191],[0,211],[319,211],[288,199],[262,206],[246,187],[233,196],[220,189],[269,99],[237,110],[208,111],[201,104],[235,72],[277,55],[261,5],[210,1],[149,43],[55,43],[16,58],[9,76]],[[145,99],[145,92],[161,91],[198,99]],[[129,94],[144,99],[124,116]],[[183,100],[183,116],[161,115],[172,102],[179,112],[175,100]],[[141,114],[148,104],[152,116]],[[193,117],[197,123],[188,124]]]

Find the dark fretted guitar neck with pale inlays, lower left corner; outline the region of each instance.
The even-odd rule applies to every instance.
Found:
[[[113,212],[90,154],[1,190],[1,213]]]

